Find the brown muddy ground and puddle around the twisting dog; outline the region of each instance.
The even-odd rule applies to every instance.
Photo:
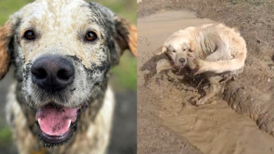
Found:
[[[138,153],[273,153],[274,2],[143,0],[137,8]],[[170,14],[160,17],[159,13],[171,10],[188,10],[214,21],[197,24],[189,15],[187,22],[180,23]],[[176,31],[174,24],[184,28],[204,22],[237,27],[246,40],[248,58],[243,74],[228,85],[222,97],[197,108],[190,102],[207,88],[206,83],[200,84],[203,78],[187,76],[187,70],[156,74],[157,61],[165,57],[153,52]],[[151,26],[139,28],[148,23]]]

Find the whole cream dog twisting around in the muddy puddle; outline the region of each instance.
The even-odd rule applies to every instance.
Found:
[[[174,67],[187,66],[195,74],[205,74],[210,89],[196,103],[203,105],[216,94],[223,94],[226,81],[243,71],[247,50],[245,40],[234,28],[205,24],[173,33],[157,50],[158,55],[162,53],[171,58]]]

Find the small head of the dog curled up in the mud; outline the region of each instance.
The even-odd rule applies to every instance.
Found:
[[[157,49],[157,55],[166,53],[173,60],[175,67],[185,67],[189,52],[194,51],[194,42],[188,30],[175,32],[162,46]]]

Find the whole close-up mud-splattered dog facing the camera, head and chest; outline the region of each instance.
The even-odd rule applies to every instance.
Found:
[[[109,71],[126,49],[137,55],[137,28],[97,3],[37,0],[12,15],[0,28],[0,79],[12,62],[6,114],[19,153],[105,153]]]

